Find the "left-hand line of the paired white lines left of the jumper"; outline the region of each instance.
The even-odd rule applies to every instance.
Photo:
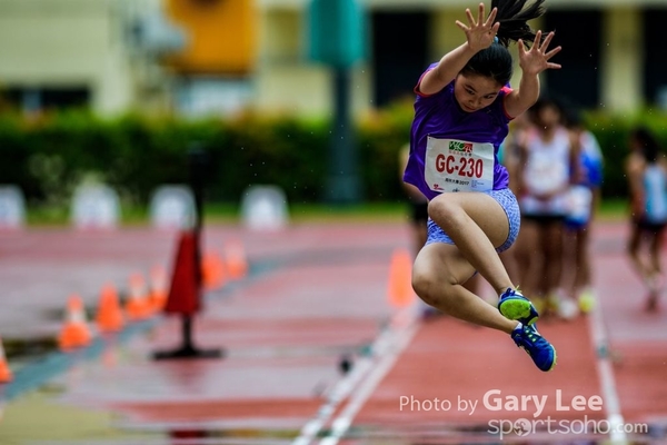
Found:
[[[371,354],[361,356],[355,360],[350,373],[334,386],[329,392],[327,402],[320,406],[317,415],[303,425],[299,436],[292,442],[292,445],[311,444],[325,425],[327,425],[336,409],[338,409],[338,406],[348,398],[355,388],[362,384],[366,378],[372,378],[372,375],[377,374],[377,363],[381,362],[382,358],[392,350],[396,342],[395,337],[397,337],[397,329],[405,328],[405,326],[415,323],[416,317],[414,313],[414,306],[409,306],[396,314],[389,326],[386,327],[371,344]],[[376,370],[374,370],[374,366],[376,366]]]

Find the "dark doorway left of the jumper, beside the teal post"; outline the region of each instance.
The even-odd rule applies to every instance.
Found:
[[[411,96],[428,66],[426,12],[372,14],[374,100],[377,108]]]

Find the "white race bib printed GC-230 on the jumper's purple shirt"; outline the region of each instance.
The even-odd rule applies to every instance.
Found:
[[[434,191],[490,191],[494,145],[428,137],[425,179]]]

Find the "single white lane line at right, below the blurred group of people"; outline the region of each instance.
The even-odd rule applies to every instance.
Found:
[[[613,444],[627,444],[628,437],[624,432],[624,418],[620,412],[620,400],[616,392],[616,379],[614,378],[614,366],[611,364],[609,338],[605,328],[603,309],[599,297],[596,296],[591,312],[588,314],[588,329],[593,336],[593,344],[597,356],[597,372],[600,379],[603,400],[607,411],[609,423],[609,438]]]

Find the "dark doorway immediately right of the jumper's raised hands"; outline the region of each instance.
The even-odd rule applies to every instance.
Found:
[[[585,108],[597,108],[600,99],[601,14],[596,10],[548,11],[545,31],[556,31],[550,47],[563,47],[551,59],[560,70],[547,70],[544,92]]]

